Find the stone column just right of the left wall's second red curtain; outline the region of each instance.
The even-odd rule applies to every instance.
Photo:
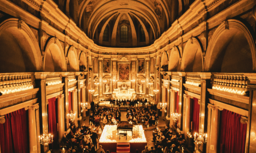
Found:
[[[64,103],[63,103],[64,94],[56,97],[58,100],[58,134],[59,134],[59,141],[61,141],[65,126],[64,126]]]

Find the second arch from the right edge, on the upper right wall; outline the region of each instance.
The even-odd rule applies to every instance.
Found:
[[[190,38],[184,48],[180,71],[202,72],[204,65],[202,50],[202,45],[197,38]]]

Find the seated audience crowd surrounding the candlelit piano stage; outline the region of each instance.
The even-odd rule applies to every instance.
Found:
[[[128,101],[128,103],[129,105],[133,105],[130,101]],[[145,126],[157,126],[159,119],[157,112],[155,110],[150,110],[147,107],[128,108],[126,118],[129,122],[141,123]],[[119,121],[121,121],[121,112],[118,107],[93,108],[89,116],[89,126],[86,126],[85,124],[79,127],[72,125],[69,134],[64,134],[62,138],[62,148],[65,149],[65,153],[105,153],[101,145],[98,145],[102,130],[105,125],[113,125]],[[153,142],[155,147],[151,147],[150,150],[150,148],[145,146],[145,150],[143,150],[142,153],[179,152],[185,145],[186,140],[183,138],[182,134],[177,134],[175,131],[174,126],[170,128],[166,126],[164,130],[157,127],[157,131],[153,132]],[[109,151],[106,151],[106,153],[107,152]]]

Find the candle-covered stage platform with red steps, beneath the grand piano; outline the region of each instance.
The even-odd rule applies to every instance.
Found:
[[[119,126],[119,128],[122,127]],[[105,125],[101,138],[99,139],[99,145],[102,145],[102,148],[104,148],[105,151],[136,152],[136,150],[138,150],[141,152],[145,149],[147,140],[145,139],[144,130],[141,125],[133,125],[132,132],[127,130],[119,130],[119,133],[126,133],[127,137],[120,136],[119,138],[117,129],[117,125]]]

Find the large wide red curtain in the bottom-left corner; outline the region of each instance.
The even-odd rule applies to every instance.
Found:
[[[23,109],[5,115],[5,123],[0,124],[1,152],[29,152],[27,112]]]

